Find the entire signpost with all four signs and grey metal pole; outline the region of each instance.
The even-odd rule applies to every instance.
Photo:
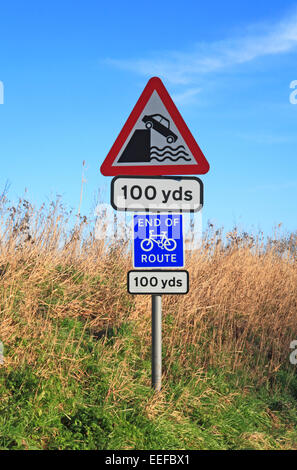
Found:
[[[169,150],[160,153],[165,149]],[[165,154],[174,158],[168,157],[172,163],[164,166],[164,158],[158,157]],[[176,270],[185,265],[182,213],[198,212],[203,206],[199,178],[170,175],[209,170],[160,78],[147,83],[100,170],[104,176],[115,177],[111,183],[113,209],[142,212],[132,216],[133,267],[138,269],[129,271],[127,287],[130,294],[152,296],[152,387],[160,391],[161,296],[189,291],[189,273]],[[169,175],[164,175],[166,171]]]

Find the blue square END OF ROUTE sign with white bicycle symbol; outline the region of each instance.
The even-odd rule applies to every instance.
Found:
[[[134,214],[135,268],[184,266],[182,214]]]

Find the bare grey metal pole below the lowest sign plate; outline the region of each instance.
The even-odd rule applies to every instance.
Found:
[[[152,295],[152,387],[158,392],[162,384],[162,301]]]

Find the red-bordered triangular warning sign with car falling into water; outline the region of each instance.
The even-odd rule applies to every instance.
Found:
[[[204,174],[209,164],[158,77],[147,83],[101,166],[105,176]]]

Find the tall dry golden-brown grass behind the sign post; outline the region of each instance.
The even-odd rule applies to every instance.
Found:
[[[58,202],[34,211],[25,200],[18,207],[1,201],[0,338],[14,345],[6,363],[34,363],[35,342],[46,345],[49,337],[50,355],[52,318],[84,318],[94,334],[132,321],[143,357],[149,348],[150,298],[126,293],[128,241],[96,240],[85,217],[67,232],[69,217]],[[104,218],[97,223],[106,230]],[[197,376],[214,365],[248,367],[257,375],[259,364],[273,375],[288,363],[297,338],[296,244],[286,255],[278,248],[236,232],[223,243],[217,232],[187,253],[190,293],[163,298],[167,375],[177,356],[193,373],[189,351]],[[26,348],[17,346],[20,337],[28,338]]]

